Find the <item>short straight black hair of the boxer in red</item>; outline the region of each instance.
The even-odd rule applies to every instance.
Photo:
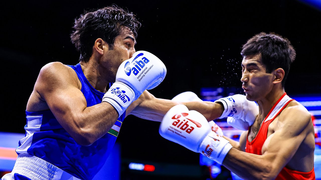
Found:
[[[243,45],[241,55],[260,55],[266,72],[282,68],[285,72],[282,87],[289,74],[290,65],[294,61],[296,53],[291,42],[281,35],[275,33],[266,34],[261,32],[247,40]]]

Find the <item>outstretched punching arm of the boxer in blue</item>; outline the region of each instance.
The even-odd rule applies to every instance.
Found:
[[[200,112],[208,121],[219,118],[224,110],[224,107],[216,102],[176,102],[168,99],[156,98],[146,90],[138,100],[134,101],[127,108],[126,114],[133,114],[142,119],[161,122],[166,112],[178,104],[184,104],[189,110]]]

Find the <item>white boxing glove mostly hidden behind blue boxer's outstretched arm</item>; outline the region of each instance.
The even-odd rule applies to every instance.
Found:
[[[184,93],[180,93],[173,97],[172,101],[177,101],[177,102],[190,102],[190,101],[203,101],[201,100],[195,93],[191,91],[187,91]],[[221,127],[219,127],[217,124],[215,124],[214,121],[208,122],[210,125],[212,131],[214,131],[216,134],[223,136],[223,131]]]

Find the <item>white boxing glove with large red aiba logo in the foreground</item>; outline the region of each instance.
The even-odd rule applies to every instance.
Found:
[[[172,107],[165,114],[159,132],[162,137],[200,152],[219,164],[232,148],[228,140],[211,130],[201,113],[188,110],[183,104]]]

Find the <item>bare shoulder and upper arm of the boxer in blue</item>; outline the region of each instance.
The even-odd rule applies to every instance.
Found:
[[[57,121],[67,129],[87,107],[85,97],[72,79],[64,65],[56,64],[42,69],[35,84]]]

